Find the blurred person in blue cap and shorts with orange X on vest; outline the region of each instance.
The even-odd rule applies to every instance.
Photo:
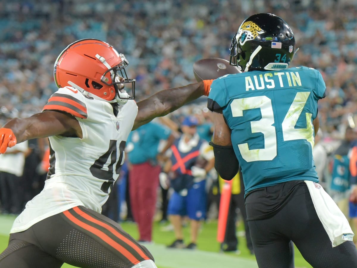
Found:
[[[169,248],[195,249],[201,220],[206,216],[206,177],[213,168],[213,150],[197,134],[198,120],[187,116],[181,124],[182,135],[172,144],[171,158],[164,166],[169,173],[170,187],[174,189],[167,208],[174,227],[175,241]],[[191,242],[183,243],[182,217],[188,216],[191,225]]]

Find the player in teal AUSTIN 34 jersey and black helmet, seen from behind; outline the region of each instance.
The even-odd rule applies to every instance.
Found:
[[[232,179],[239,167],[259,267],[294,267],[293,243],[313,267],[357,267],[353,232],[326,194],[312,157],[318,70],[289,68],[294,34],[273,14],[255,14],[232,39],[230,64],[242,70],[213,81],[215,168]]]

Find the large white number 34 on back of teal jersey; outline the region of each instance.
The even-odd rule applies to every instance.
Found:
[[[310,92],[298,92],[290,105],[290,108],[282,122],[282,132],[284,141],[306,139],[313,147],[313,125],[311,123],[311,113],[306,113],[306,125],[304,129],[296,129],[295,125],[301,115]],[[273,160],[277,155],[277,137],[275,130],[274,111],[271,99],[267,96],[254,96],[242,99],[235,99],[231,103],[233,117],[243,116],[244,110],[260,108],[262,118],[251,121],[252,133],[262,133],[264,135],[264,147],[262,149],[249,149],[248,143],[238,144],[242,158],[247,162]]]

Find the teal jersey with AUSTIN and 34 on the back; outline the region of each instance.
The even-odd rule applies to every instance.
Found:
[[[304,66],[213,81],[208,108],[222,110],[232,130],[246,194],[290,180],[318,182],[312,121],[325,90],[320,72]]]

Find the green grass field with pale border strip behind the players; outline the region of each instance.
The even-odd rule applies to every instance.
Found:
[[[9,238],[9,230],[15,217],[10,215],[0,215],[0,250],[4,250]],[[137,228],[135,223],[122,223],[123,229],[137,238]],[[240,254],[221,253],[220,244],[216,241],[217,222],[204,223],[198,238],[196,250],[188,249],[167,249],[166,244],[174,240],[174,233],[168,230],[167,224],[154,225],[154,243],[145,245],[155,257],[155,263],[158,268],[213,268],[213,267],[244,267],[257,268],[255,257],[250,255],[245,246],[245,238],[242,235],[242,225],[238,226],[238,238]],[[189,228],[185,228],[186,242],[189,242]],[[62,268],[73,268],[74,266],[64,264]],[[295,249],[295,267],[310,268],[301,256],[300,252]]]

